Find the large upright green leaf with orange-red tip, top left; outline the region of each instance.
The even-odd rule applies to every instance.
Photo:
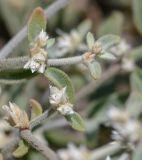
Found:
[[[33,42],[39,33],[46,29],[46,19],[41,7],[37,7],[28,21],[28,39]]]

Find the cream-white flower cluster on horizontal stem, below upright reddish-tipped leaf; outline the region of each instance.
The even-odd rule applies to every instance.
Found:
[[[41,31],[35,38],[35,41],[30,44],[31,57],[24,65],[25,69],[31,69],[32,73],[44,73],[47,64],[47,43],[48,35],[45,31]]]

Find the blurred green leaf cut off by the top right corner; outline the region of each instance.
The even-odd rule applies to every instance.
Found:
[[[133,0],[132,1],[133,19],[134,24],[138,31],[142,33],[142,1]]]

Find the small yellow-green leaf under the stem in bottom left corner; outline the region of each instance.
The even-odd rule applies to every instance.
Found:
[[[18,148],[13,152],[13,156],[16,158],[20,158],[23,157],[25,154],[28,153],[29,147],[27,146],[27,144],[21,140],[19,142],[19,146]]]

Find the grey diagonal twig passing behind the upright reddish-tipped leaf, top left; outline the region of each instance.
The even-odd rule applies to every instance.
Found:
[[[57,0],[51,6],[49,6],[45,10],[46,18],[51,18],[55,13],[57,13],[60,9],[65,7],[70,0]],[[1,50],[0,50],[0,58],[7,57],[15,47],[19,45],[20,42],[26,37],[27,26],[23,27],[20,32],[18,32]]]

